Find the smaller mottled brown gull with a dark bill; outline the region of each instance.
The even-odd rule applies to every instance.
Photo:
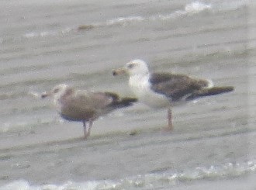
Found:
[[[54,105],[61,117],[83,123],[85,139],[90,136],[92,123],[99,116],[137,102],[137,98],[119,98],[119,95],[113,92],[78,90],[64,84],[57,85],[50,92],[41,95],[42,98],[47,96],[54,98]]]

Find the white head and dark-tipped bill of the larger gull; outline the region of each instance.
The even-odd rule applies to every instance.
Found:
[[[148,74],[148,67],[144,60],[131,60],[124,67],[112,71],[112,74],[144,75]]]

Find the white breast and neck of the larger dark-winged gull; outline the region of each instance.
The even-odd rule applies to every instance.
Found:
[[[149,75],[133,75],[130,77],[129,85],[139,102],[154,108],[168,107],[170,105],[168,98],[150,89]]]

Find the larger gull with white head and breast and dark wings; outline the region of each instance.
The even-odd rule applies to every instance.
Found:
[[[168,130],[173,130],[171,106],[195,98],[234,90],[232,86],[213,87],[210,80],[190,78],[185,74],[150,73],[144,60],[131,60],[113,75],[129,74],[129,85],[138,101],[153,108],[168,108]]]

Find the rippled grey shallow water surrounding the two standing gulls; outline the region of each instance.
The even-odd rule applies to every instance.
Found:
[[[254,1],[0,2],[0,189],[254,189]],[[235,92],[166,110],[138,103],[82,140],[37,95],[59,83],[132,95],[112,69],[211,78]]]

